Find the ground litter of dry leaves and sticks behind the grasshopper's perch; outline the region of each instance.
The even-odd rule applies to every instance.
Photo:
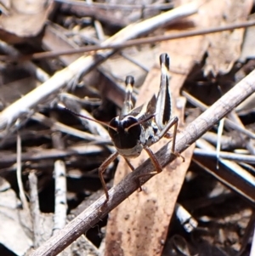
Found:
[[[33,54],[238,24],[252,19],[254,9],[250,0],[188,2],[148,2],[141,6],[138,1],[2,3],[1,255],[252,252],[253,100],[244,101],[224,118],[221,136],[213,126],[182,152],[185,162],[176,159],[146,182],[143,191],[134,191],[111,213],[106,209],[108,217],[98,217],[97,224],[90,225],[86,234],[84,230],[70,247],[65,248],[65,240],[61,242],[61,229],[79,218],[78,214],[89,209],[99,196],[105,198],[98,168],[115,149],[104,127],[94,128],[94,124],[72,116],[58,104],[83,114],[86,110],[86,116],[109,122],[122,107],[127,75],[135,78],[136,105],[157,93],[161,76],[158,56],[166,52],[171,58],[173,115],[179,118],[181,133],[254,69],[254,56],[247,50],[252,45],[253,27],[118,51],[42,55],[38,60],[32,59]],[[171,9],[177,17],[172,18]],[[161,139],[152,151],[168,141]],[[147,158],[142,154],[132,164],[136,168]],[[17,185],[19,168],[27,202],[24,198],[20,201],[23,189]],[[120,157],[105,172],[107,185],[112,186],[113,176],[116,185],[129,173]],[[48,246],[51,236],[59,237],[59,251]]]

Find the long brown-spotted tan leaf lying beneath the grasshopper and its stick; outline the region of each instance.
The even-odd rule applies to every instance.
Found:
[[[216,10],[215,10],[216,11]],[[201,12],[188,20],[199,24],[207,19]],[[173,31],[176,32],[176,31]],[[187,47],[189,46],[189,47]],[[162,43],[161,52],[170,54],[172,72],[171,89],[173,95],[173,112],[179,117],[178,128],[184,126],[184,98],[179,96],[180,88],[196,62],[201,61],[207,48],[204,37],[190,37]],[[140,91],[138,105],[144,99],[150,99],[159,87],[160,69],[157,66],[149,72]],[[157,151],[166,140],[162,139],[151,148]],[[160,255],[167,236],[168,225],[173,215],[173,208],[178,192],[189,168],[194,147],[184,151],[185,162],[177,159],[163,170],[161,174],[150,179],[140,193],[127,198],[109,217],[106,232],[105,255]],[[135,166],[148,158],[146,154],[133,161]],[[116,171],[115,183],[130,172],[125,162],[121,161]]]

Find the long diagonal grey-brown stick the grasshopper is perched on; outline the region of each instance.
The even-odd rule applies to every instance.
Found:
[[[197,117],[194,122],[191,122],[183,132],[178,134],[175,144],[175,151],[181,153],[188,148],[196,139],[205,134],[207,130],[225,117],[229,111],[233,110],[236,105],[245,100],[249,95],[255,92],[255,71],[252,71],[241,82],[238,82],[234,88],[224,94],[217,102],[215,102],[207,111]],[[160,151],[157,151],[156,157],[165,167],[169,162],[172,162],[176,156],[171,154],[172,145],[167,143]],[[45,242],[42,247],[39,247],[33,256],[53,256],[61,252],[71,242],[81,236],[88,229],[96,225],[99,220],[103,219],[107,213],[113,208],[116,208],[122,201],[130,196],[134,191],[137,191],[139,184],[137,177],[143,176],[142,183],[151,178],[150,174],[153,165],[150,160],[146,160],[139,168],[128,174],[119,184],[114,186],[109,191],[109,201],[105,203],[105,195],[94,202],[89,208],[84,210],[76,219],[73,219],[63,230],[60,230],[56,236],[51,237]],[[160,175],[160,174],[159,174]]]

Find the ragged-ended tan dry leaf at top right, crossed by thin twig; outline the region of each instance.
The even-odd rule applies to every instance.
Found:
[[[201,24],[204,26],[224,26],[247,20],[252,9],[252,3],[252,0],[209,1],[206,5],[207,8],[204,9],[209,19],[207,22],[203,20]],[[217,12],[212,10],[217,10]],[[241,55],[244,31],[245,29],[236,29],[207,35],[209,47],[204,69],[205,76],[212,72],[212,75],[216,77],[218,73],[225,74],[230,71]]]

